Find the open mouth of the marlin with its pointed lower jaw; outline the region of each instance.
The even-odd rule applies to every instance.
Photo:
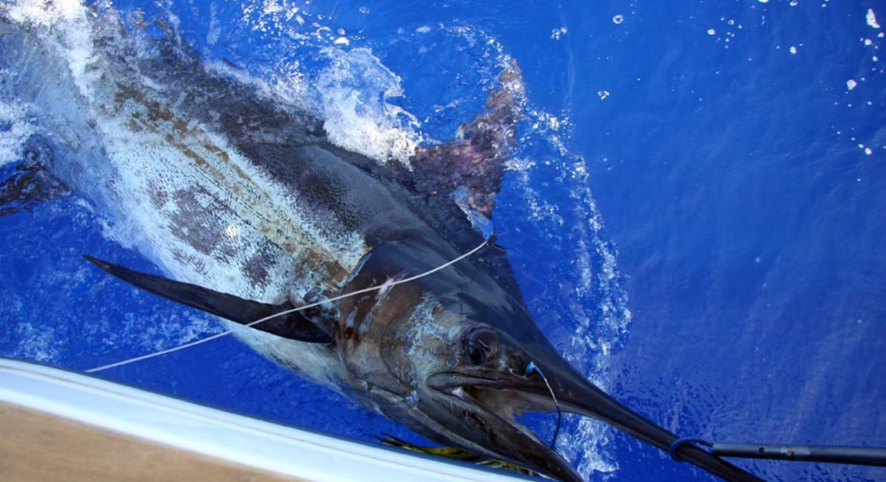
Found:
[[[427,384],[455,406],[465,424],[453,432],[479,452],[548,477],[583,481],[562,456],[517,422],[516,416],[524,412],[556,409],[549,394],[546,397],[519,388],[527,381],[530,380],[517,375],[494,378],[479,373],[444,371],[432,375]]]

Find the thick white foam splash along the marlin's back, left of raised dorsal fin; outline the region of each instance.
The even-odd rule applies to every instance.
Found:
[[[269,77],[278,92],[290,91],[302,103],[309,101],[309,110],[324,119],[331,142],[380,162],[397,159],[408,164],[423,142],[420,123],[390,102],[402,96],[400,78],[371,50],[343,50],[354,40],[344,29],[325,25],[322,15],[299,10],[290,0],[277,0],[271,8],[265,0],[249,0],[242,9],[243,21],[263,35],[294,40],[299,47],[317,50],[315,60],[328,60],[317,75],[301,72],[298,61],[291,61],[277,65]],[[364,7],[360,11],[369,13]],[[416,29],[430,31],[429,26]]]

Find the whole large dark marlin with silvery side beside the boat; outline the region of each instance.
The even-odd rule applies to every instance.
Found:
[[[7,46],[41,44],[50,53],[40,62],[69,72],[67,102],[87,119],[58,121],[79,141],[53,142],[77,155],[48,167],[132,226],[136,246],[168,278],[90,262],[234,325],[321,302],[237,336],[431,440],[551,478],[582,480],[515,414],[563,409],[663,450],[678,439],[563,360],[486,229],[524,96],[515,61],[454,141],[419,147],[406,163],[379,162],[330,142],[323,119],[298,105],[209,68],[174,34],[152,40],[156,55],[145,57],[106,15],[70,21],[92,32],[80,50],[74,36],[52,43],[4,19]],[[82,49],[89,66],[80,68],[72,59]],[[24,65],[23,78],[36,79],[35,69]],[[19,88],[35,103],[58,101]],[[392,283],[484,241],[438,272]],[[699,448],[680,446],[677,455],[727,480],[757,480]]]

